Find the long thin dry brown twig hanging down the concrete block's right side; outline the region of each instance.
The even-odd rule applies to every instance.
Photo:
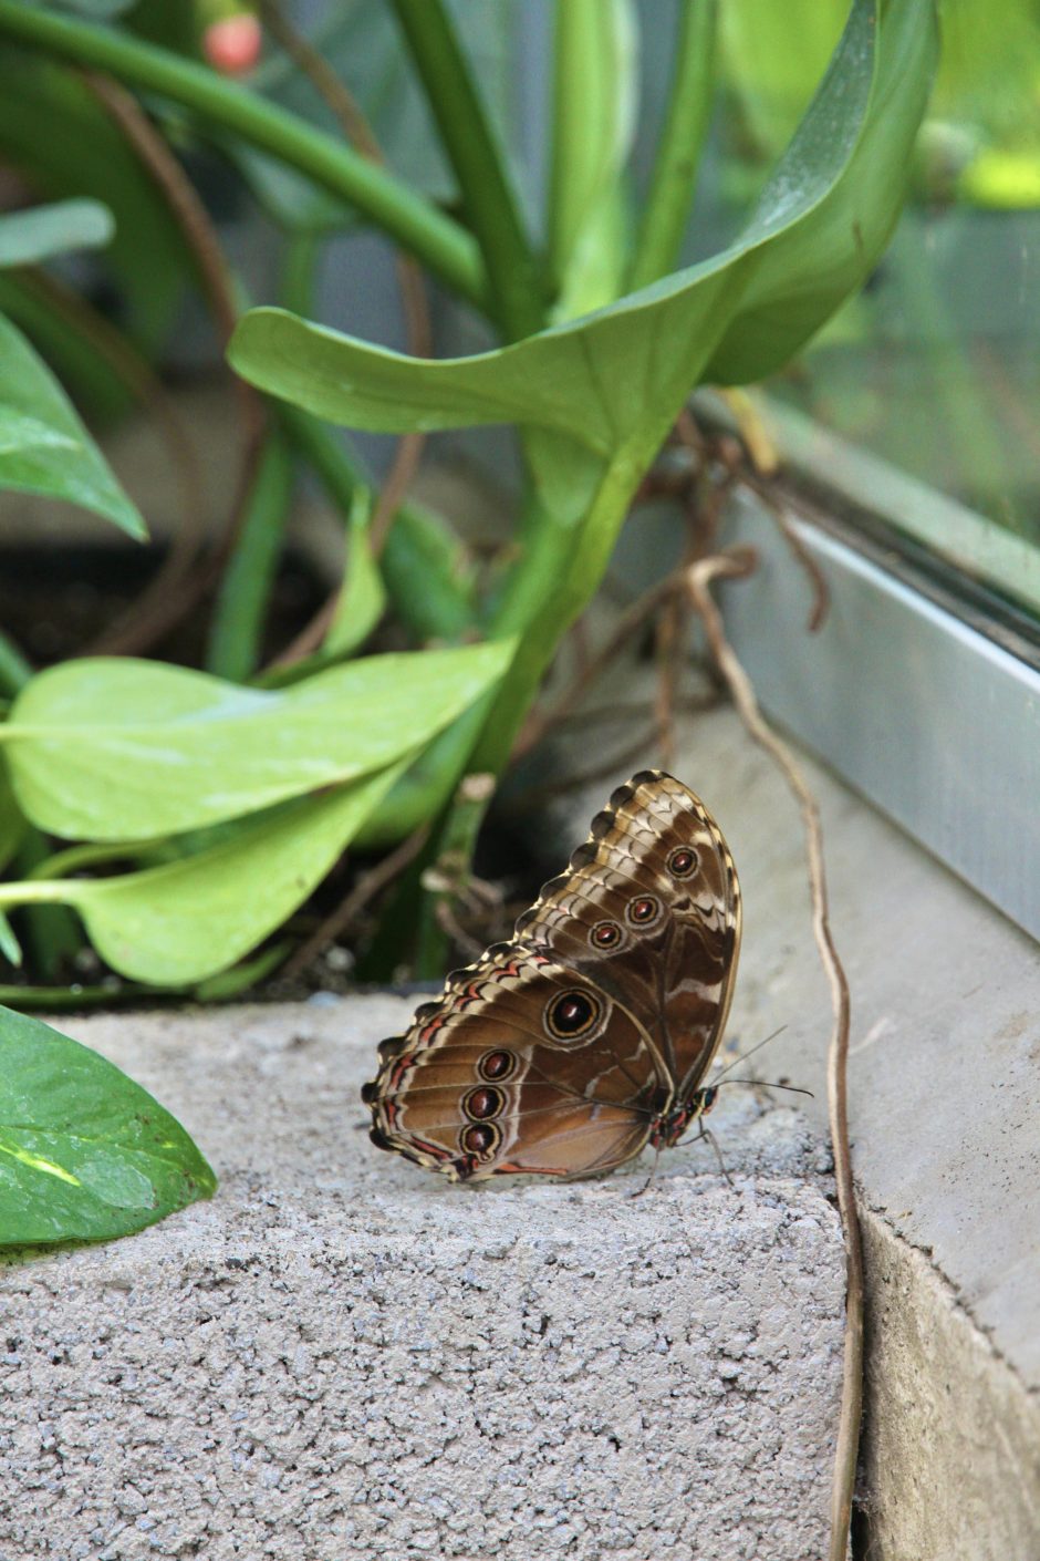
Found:
[[[834,1460],[834,1485],[831,1495],[831,1550],[830,1561],[845,1561],[848,1530],[851,1522],[853,1491],[856,1481],[856,1453],[859,1447],[859,1421],[862,1414],[862,1335],[864,1335],[864,1275],[862,1238],[856,1213],[851,1158],[848,1150],[848,980],[834,948],[828,916],[826,874],[823,868],[823,840],[820,813],[809,787],[784,743],[770,731],[758,709],[752,682],[741,667],[725,637],[722,617],[714,604],[709,584],[714,579],[736,579],[755,568],[755,554],[748,548],[733,548],[728,553],[702,559],[688,571],[691,599],[700,613],[705,634],[719,668],[730,685],[733,702],[755,741],[781,770],[791,787],[806,830],[809,855],[809,893],[812,896],[812,932],[815,935],[820,963],[831,987],[834,1027],[828,1049],[826,1094],[834,1150],[834,1174],[837,1180],[837,1204],[845,1230],[845,1257],[848,1289],[845,1297],[845,1369],[842,1383],[842,1414],[837,1431]]]

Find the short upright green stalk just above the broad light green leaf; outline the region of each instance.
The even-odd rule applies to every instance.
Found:
[[[242,531],[223,573],[206,648],[206,670],[245,682],[260,660],[264,621],[293,496],[293,459],[285,439],[268,437]]]

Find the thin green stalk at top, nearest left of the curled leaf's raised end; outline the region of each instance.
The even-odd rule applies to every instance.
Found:
[[[711,119],[716,27],[717,0],[683,0],[667,109],[628,276],[631,292],[678,261]]]

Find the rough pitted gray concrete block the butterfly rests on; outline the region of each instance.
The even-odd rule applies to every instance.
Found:
[[[3,1274],[0,1558],[815,1561],[844,1261],[815,1129],[731,1090],[600,1183],[374,1149],[391,997],[65,1019],[218,1196]]]

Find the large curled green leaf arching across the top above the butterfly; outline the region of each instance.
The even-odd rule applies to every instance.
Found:
[[[586,460],[625,448],[647,459],[694,384],[770,373],[868,275],[903,201],[934,59],[928,0],[856,0],[741,237],[608,309],[440,362],[257,309],[240,322],[231,362],[260,389],[352,428],[539,431],[530,453],[546,490],[578,450]]]

